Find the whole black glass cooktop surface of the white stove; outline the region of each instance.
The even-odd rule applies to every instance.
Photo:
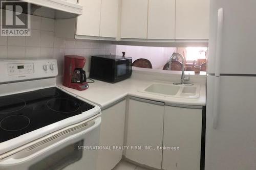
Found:
[[[0,142],[60,120],[94,106],[56,87],[0,97]]]

